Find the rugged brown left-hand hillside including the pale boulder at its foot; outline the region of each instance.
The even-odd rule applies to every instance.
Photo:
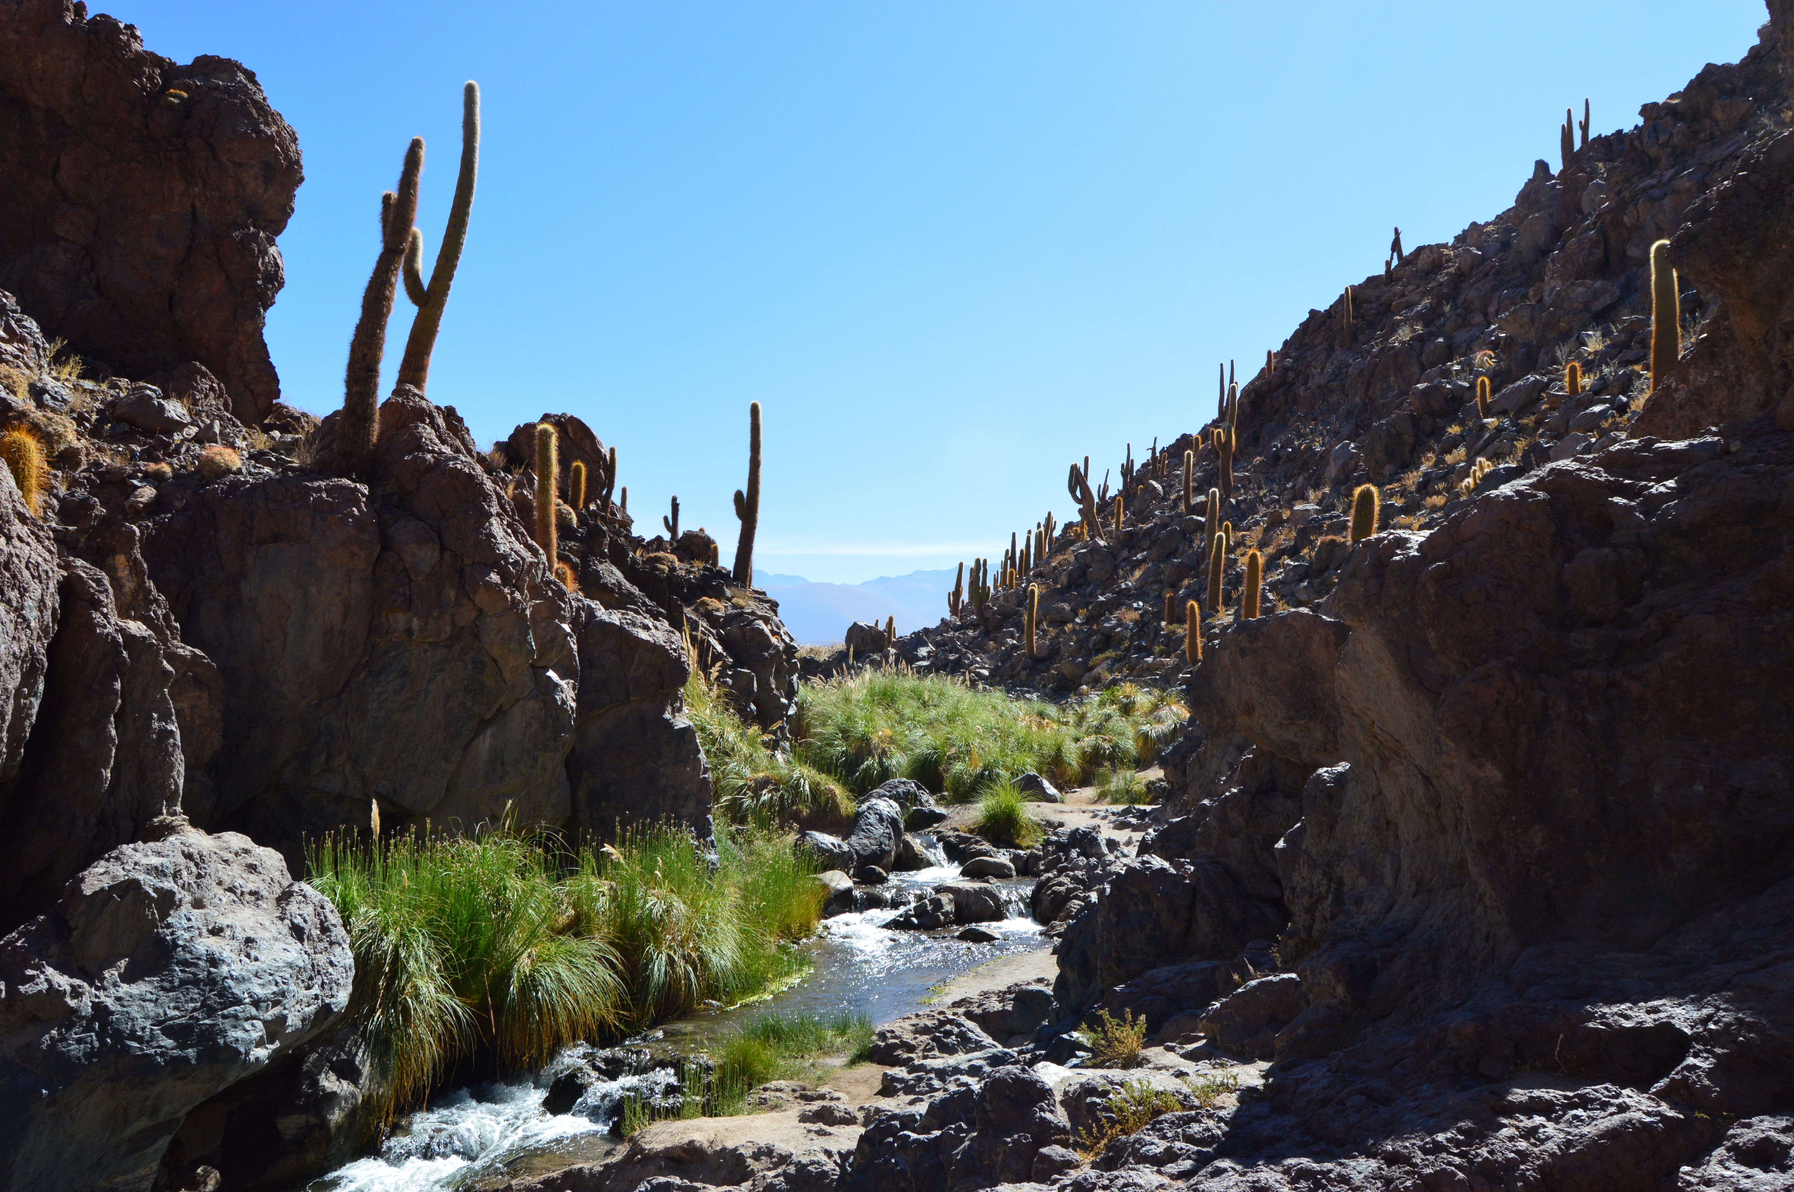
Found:
[[[260,1162],[303,1165],[341,1077],[300,1049],[353,968],[303,841],[707,835],[691,658],[782,737],[797,647],[709,538],[644,541],[596,486],[547,557],[535,423],[479,450],[400,387],[339,466],[260,337],[300,158],[255,75],[56,0],[0,47],[0,1187],[176,1178],[246,1081],[292,1135]],[[542,421],[560,493],[614,459]]]

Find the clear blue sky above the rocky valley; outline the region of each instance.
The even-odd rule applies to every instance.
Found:
[[[102,9],[102,4],[95,4]],[[124,0],[170,57],[249,65],[305,185],[269,315],[285,398],[341,403],[379,195],[459,88],[479,195],[431,367],[481,445],[585,418],[630,507],[734,548],[766,407],[762,570],[856,583],[994,554],[1202,421],[1310,307],[1507,208],[1708,61],[1762,0],[511,5]],[[400,303],[395,335],[409,326]],[[646,529],[646,527],[644,527]]]

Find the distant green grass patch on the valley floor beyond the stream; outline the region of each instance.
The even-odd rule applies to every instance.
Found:
[[[1080,787],[1105,767],[1148,765],[1186,715],[1134,683],[1049,704],[954,676],[861,670],[798,688],[793,756],[856,794],[913,778],[967,801],[1028,771]]]

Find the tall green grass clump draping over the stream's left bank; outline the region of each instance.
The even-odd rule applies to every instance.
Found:
[[[457,1068],[518,1072],[806,970],[822,889],[789,837],[639,828],[615,850],[551,834],[325,837],[310,884],[355,954],[350,1020],[384,1126]]]

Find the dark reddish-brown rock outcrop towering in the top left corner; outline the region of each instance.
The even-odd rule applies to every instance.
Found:
[[[255,73],[179,66],[84,4],[7,0],[0,163],[0,287],[48,335],[127,376],[197,362],[239,419],[267,416],[262,323],[301,172]]]

